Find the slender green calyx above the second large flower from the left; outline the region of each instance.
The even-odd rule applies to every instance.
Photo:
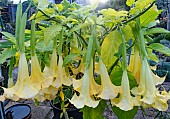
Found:
[[[33,20],[31,23],[31,56],[35,55],[35,40],[35,20]]]

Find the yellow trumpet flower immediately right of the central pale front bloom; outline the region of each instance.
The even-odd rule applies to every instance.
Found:
[[[99,59],[99,72],[101,76],[101,93],[98,97],[106,100],[115,98],[118,95],[119,87],[111,82],[106,66],[101,58]]]

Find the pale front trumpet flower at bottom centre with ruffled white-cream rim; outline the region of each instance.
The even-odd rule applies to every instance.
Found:
[[[93,65],[93,64],[91,64]],[[99,101],[95,101],[92,99],[90,95],[90,70],[86,69],[84,72],[84,76],[82,78],[82,86],[79,92],[79,96],[74,94],[70,102],[77,108],[83,108],[85,105],[89,107],[97,107]]]

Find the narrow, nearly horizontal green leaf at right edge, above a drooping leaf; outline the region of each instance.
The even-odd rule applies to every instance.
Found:
[[[170,33],[170,31],[164,29],[164,28],[151,28],[148,29],[144,34],[145,35],[152,35],[155,33]]]

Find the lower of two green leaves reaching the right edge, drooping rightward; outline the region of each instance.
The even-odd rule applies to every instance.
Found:
[[[159,51],[167,56],[170,56],[170,49],[160,43],[153,43],[153,44],[149,45],[149,48]]]

